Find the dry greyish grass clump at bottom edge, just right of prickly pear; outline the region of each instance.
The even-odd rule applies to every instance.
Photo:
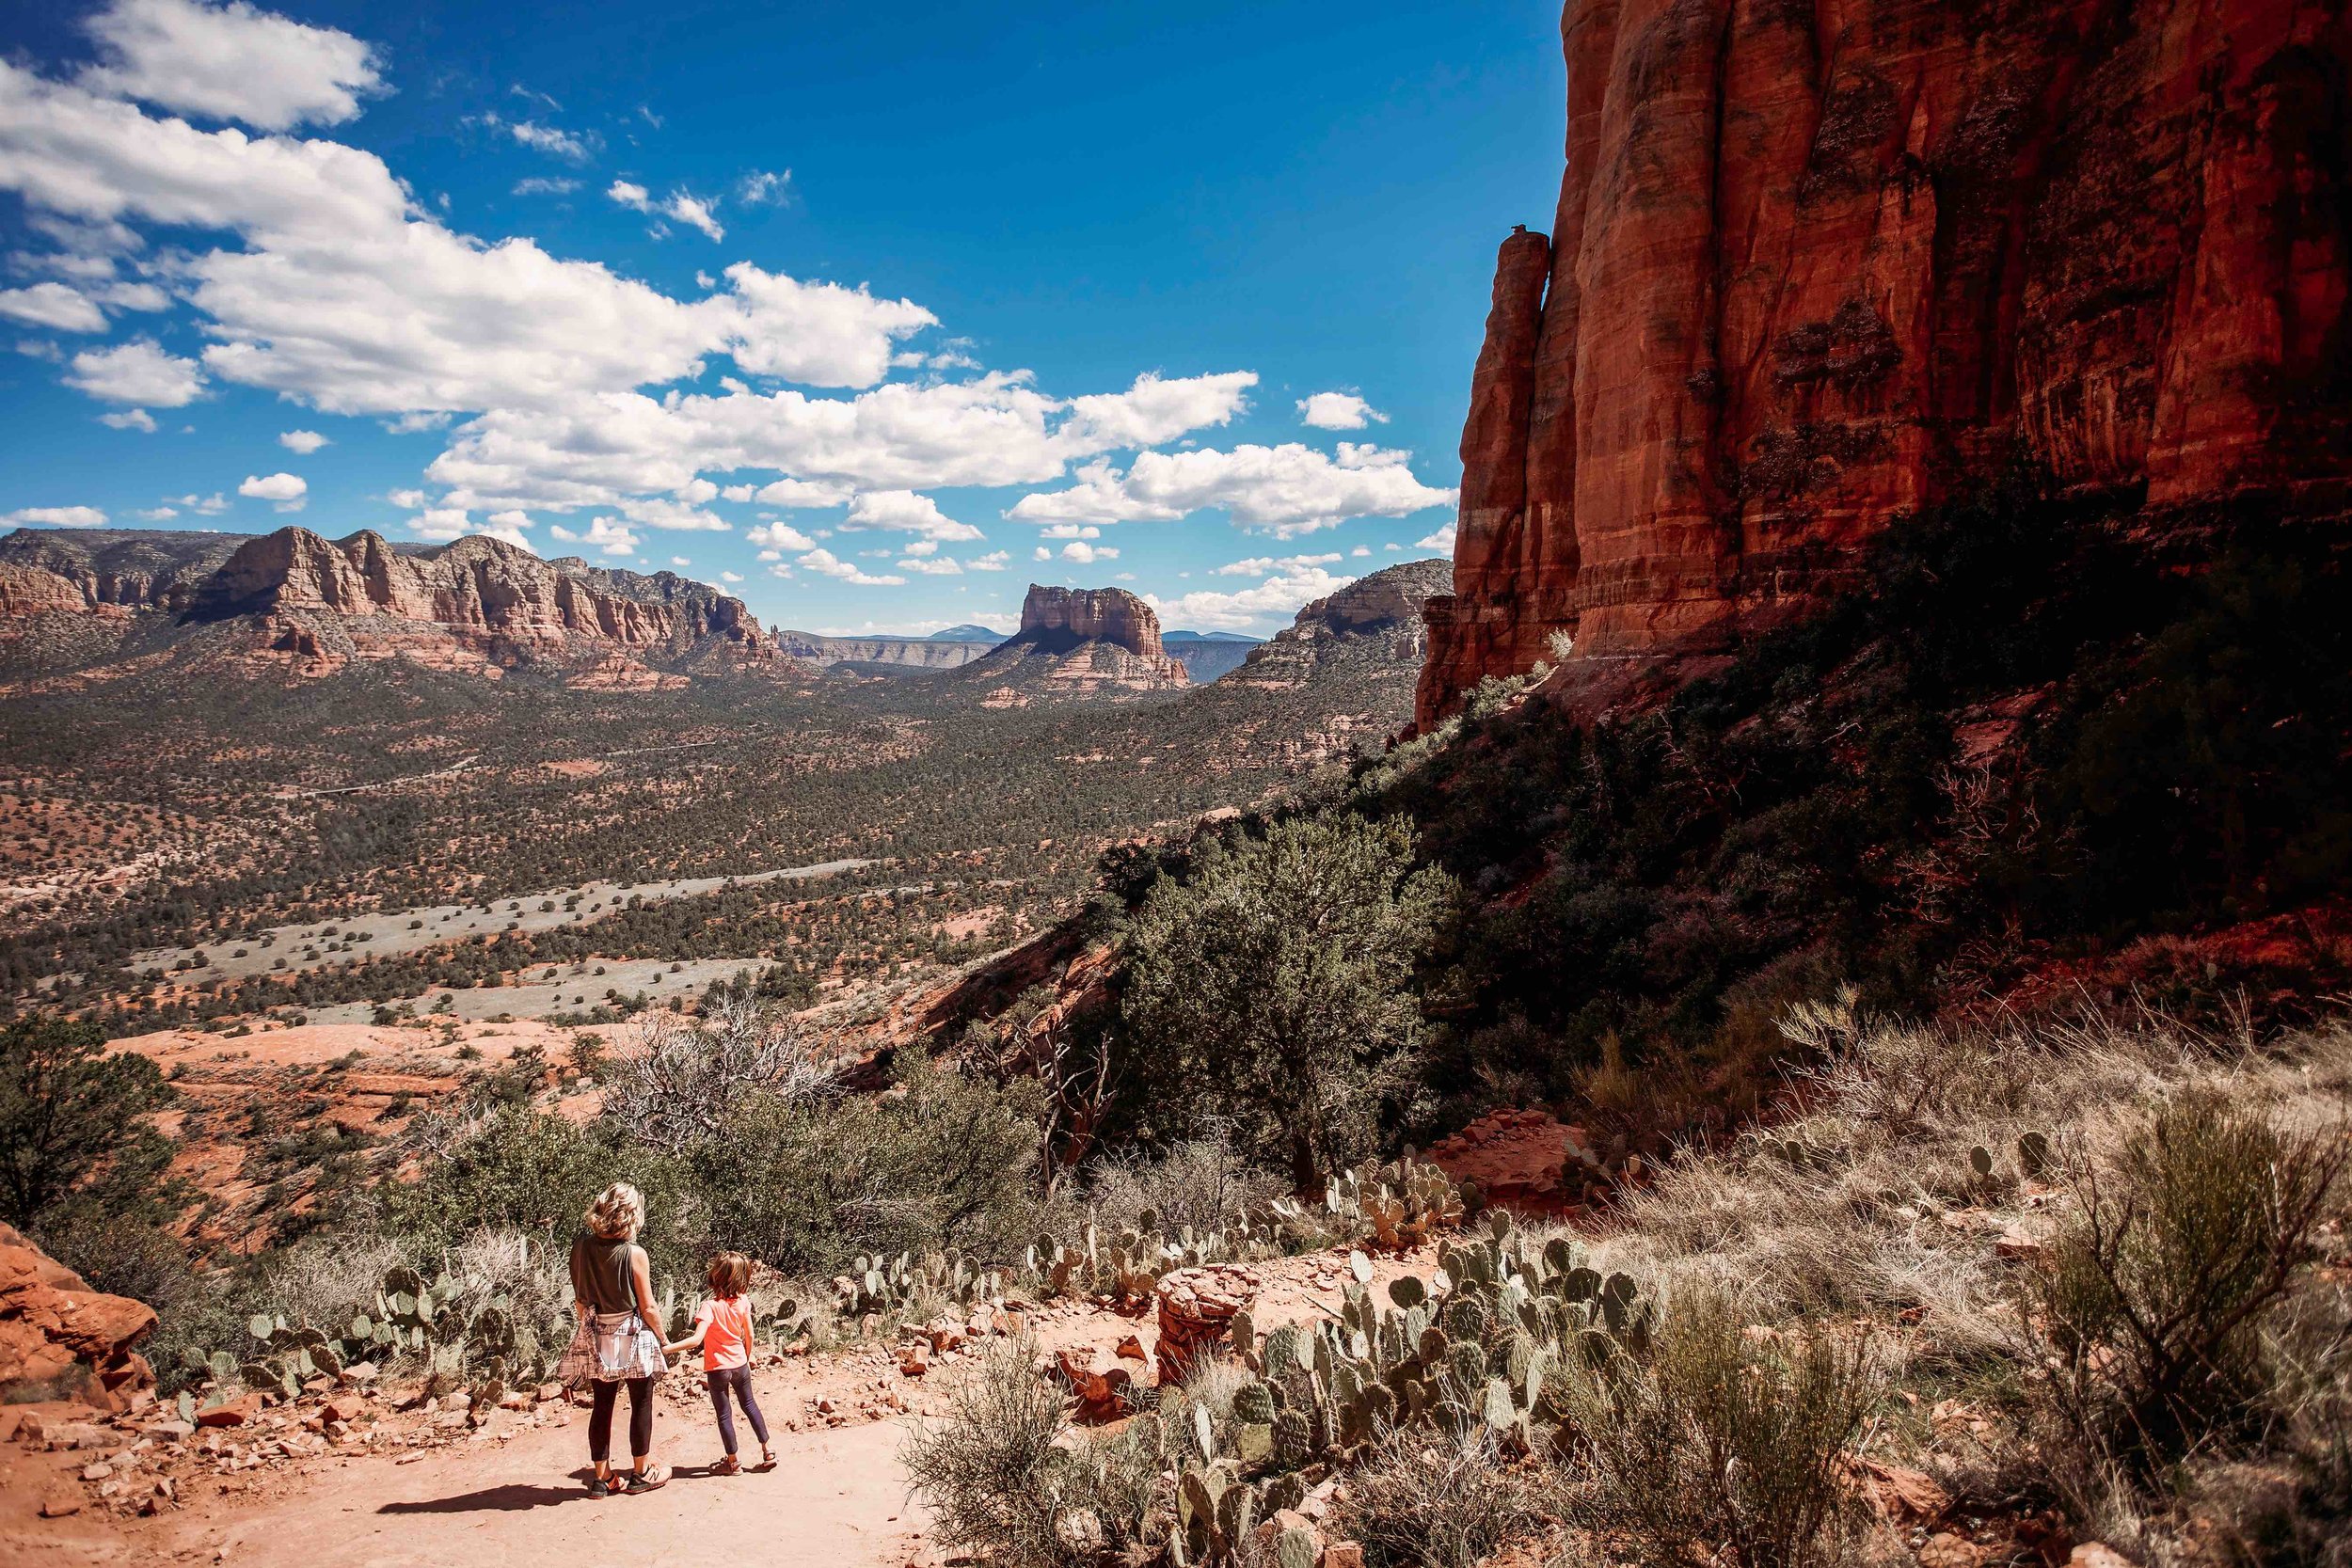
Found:
[[[1341,1528],[1371,1568],[1472,1568],[1550,1523],[1550,1479],[1484,1427],[1399,1429],[1348,1472]]]

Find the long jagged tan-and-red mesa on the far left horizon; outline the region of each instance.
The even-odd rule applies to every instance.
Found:
[[[579,665],[590,684],[654,679],[666,668],[783,665],[741,599],[659,571],[539,559],[499,538],[395,545],[360,531],[52,534],[0,541],[0,611],[153,616],[205,625],[249,621],[256,658],[325,672],[350,658],[405,656],[496,672],[534,661]]]

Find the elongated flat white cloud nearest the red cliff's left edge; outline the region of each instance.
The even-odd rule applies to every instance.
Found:
[[[1348,517],[1402,517],[1451,505],[1456,491],[1414,477],[1409,451],[1341,442],[1327,456],[1298,442],[1230,451],[1141,451],[1120,473],[1108,461],[1077,470],[1077,484],[1023,496],[1018,522],[1174,522],[1204,508],[1275,538],[1329,529]]]

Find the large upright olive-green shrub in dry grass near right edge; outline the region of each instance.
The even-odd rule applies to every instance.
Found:
[[[2293,1138],[2190,1093],[2070,1180],[2077,1213],[2027,1274],[2034,1382],[2058,1429],[2147,1474],[2244,1427],[2277,1382],[2270,1324],[2317,1258],[2343,1128]]]

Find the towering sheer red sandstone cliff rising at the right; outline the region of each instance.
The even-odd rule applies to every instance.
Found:
[[[1569,0],[1418,719],[1555,632],[1710,654],[2013,461],[2145,505],[2352,475],[2352,0]]]

